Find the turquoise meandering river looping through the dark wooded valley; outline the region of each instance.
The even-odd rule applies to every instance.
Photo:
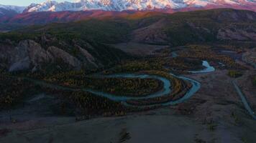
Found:
[[[213,69],[212,66],[209,65],[209,63],[207,61],[203,61],[203,65],[206,66],[205,69],[202,69],[201,71],[194,71],[194,73],[204,73],[204,72],[211,72],[214,71],[215,69]],[[186,92],[186,94],[180,98],[177,99],[175,101],[170,101],[167,103],[163,103],[163,104],[154,104],[155,105],[163,105],[163,106],[167,106],[167,105],[174,105],[174,104],[179,104],[182,102],[185,102],[186,100],[190,99],[193,94],[195,94],[198,89],[200,89],[201,84],[199,82],[197,82],[196,80],[193,79],[189,79],[187,77],[180,77],[180,76],[176,76],[172,73],[170,73],[172,76],[185,80],[187,82],[190,82],[192,84],[191,89],[188,90],[188,92]],[[111,99],[113,101],[116,102],[122,102],[125,104],[125,102],[127,100],[130,99],[150,99],[150,98],[155,98],[155,97],[162,97],[162,96],[168,96],[168,94],[170,94],[172,92],[171,89],[171,83],[168,79],[164,78],[164,77],[160,77],[160,76],[156,76],[156,75],[150,75],[150,74],[111,74],[111,75],[102,75],[102,74],[96,74],[93,75],[93,77],[96,78],[140,78],[140,79],[157,79],[160,80],[161,82],[163,82],[163,89],[161,89],[158,92],[149,94],[145,97],[132,97],[132,96],[123,96],[123,95],[115,95],[115,94],[110,94],[110,93],[106,93],[106,92],[102,92],[102,91],[97,91],[97,90],[93,90],[93,89],[88,89],[88,88],[81,88],[81,89],[74,89],[74,88],[70,88],[70,87],[63,87],[60,85],[56,85],[56,84],[51,84],[48,82],[44,82],[41,80],[36,80],[36,79],[29,79],[29,78],[25,78],[25,79],[29,79],[30,81],[34,82],[35,84],[43,84],[46,87],[52,87],[52,88],[57,88],[57,89],[68,89],[68,90],[83,90],[85,92],[90,92],[92,94],[96,94],[98,96],[101,97],[106,97],[108,99]]]

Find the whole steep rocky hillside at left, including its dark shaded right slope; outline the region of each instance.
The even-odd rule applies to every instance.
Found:
[[[8,71],[55,71],[98,69],[128,56],[104,44],[83,40],[58,40],[43,34],[37,39],[6,39],[0,44],[0,67]]]

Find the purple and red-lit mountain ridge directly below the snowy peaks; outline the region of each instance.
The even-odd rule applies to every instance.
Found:
[[[211,9],[206,9],[206,11]],[[214,10],[214,9],[212,9]],[[216,9],[222,11],[247,11],[247,10],[236,10],[236,9]],[[193,9],[193,11],[204,11],[202,9]],[[192,11],[192,12],[193,12]],[[2,24],[49,24],[49,23],[65,23],[72,21],[82,21],[86,19],[116,19],[116,18],[130,18],[137,19],[142,16],[154,16],[170,14],[175,12],[186,12],[186,9],[180,11],[103,11],[103,10],[91,10],[91,11],[42,11],[42,12],[29,12],[24,14],[16,14],[12,17],[0,18]],[[255,13],[251,11],[250,13]]]

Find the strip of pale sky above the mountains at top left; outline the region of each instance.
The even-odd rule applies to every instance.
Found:
[[[28,6],[29,4],[32,3],[41,3],[41,2],[45,2],[46,0],[0,0],[0,4],[3,5],[14,5],[14,6]],[[75,1],[75,0],[55,0],[58,2],[61,1]]]

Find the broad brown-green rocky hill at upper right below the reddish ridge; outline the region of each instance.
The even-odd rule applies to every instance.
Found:
[[[256,41],[256,13],[232,9],[180,12],[143,19],[132,40],[171,46],[195,42]]]

